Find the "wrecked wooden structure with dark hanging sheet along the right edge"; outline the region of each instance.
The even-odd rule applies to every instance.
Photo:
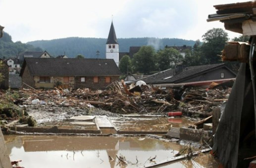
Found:
[[[243,63],[222,113],[212,153],[224,167],[248,167],[256,156],[256,1],[214,7],[217,12],[208,16],[208,22],[219,20],[226,30],[251,37],[249,43],[229,43],[223,50],[224,61]]]

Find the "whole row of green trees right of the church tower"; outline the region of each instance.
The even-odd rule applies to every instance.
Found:
[[[152,46],[142,46],[131,59],[128,55],[122,57],[119,68],[122,73],[142,72],[149,74],[154,71],[175,68],[178,64],[185,66],[199,66],[221,63],[221,51],[229,40],[228,34],[220,28],[213,28],[202,36],[203,41],[197,40],[191,50],[185,50],[185,57],[174,48],[164,48],[157,52]],[[248,36],[239,36],[233,41],[248,41]],[[239,64],[229,64],[231,68],[238,68]]]

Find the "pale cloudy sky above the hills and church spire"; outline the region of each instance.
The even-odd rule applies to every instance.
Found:
[[[202,39],[218,21],[213,5],[249,0],[0,0],[0,25],[13,41],[65,37],[107,38],[113,20],[117,38]],[[226,31],[230,38],[240,34]]]

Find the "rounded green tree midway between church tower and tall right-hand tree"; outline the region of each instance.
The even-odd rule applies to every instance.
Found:
[[[159,70],[166,70],[182,62],[183,57],[174,48],[164,48],[157,53],[157,66]]]

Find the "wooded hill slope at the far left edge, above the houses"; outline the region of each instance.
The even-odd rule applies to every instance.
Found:
[[[0,38],[0,58],[14,57],[19,51],[43,51],[39,47],[34,47],[30,44],[24,44],[20,41],[13,42],[8,33],[3,33]]]

